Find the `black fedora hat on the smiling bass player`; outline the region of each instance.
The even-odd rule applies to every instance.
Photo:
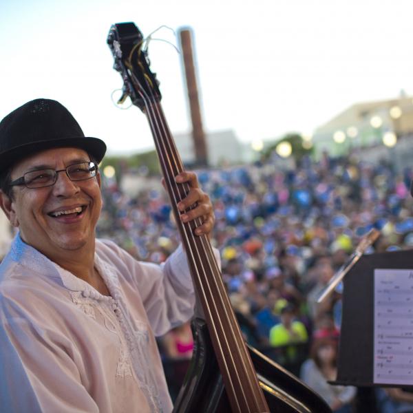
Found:
[[[106,145],[87,138],[72,114],[56,100],[35,99],[18,107],[0,122],[0,173],[33,153],[57,147],[78,147],[97,162]]]

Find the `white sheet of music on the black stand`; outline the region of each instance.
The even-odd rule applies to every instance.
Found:
[[[413,269],[374,270],[373,382],[413,385]]]

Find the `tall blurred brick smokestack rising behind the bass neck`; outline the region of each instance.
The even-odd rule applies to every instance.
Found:
[[[185,68],[185,78],[187,79],[187,91],[189,98],[189,109],[191,112],[192,138],[195,151],[195,162],[197,166],[208,165],[207,142],[205,140],[204,129],[202,128],[202,117],[200,102],[198,98],[198,87],[195,74],[195,63],[192,52],[191,30],[180,30],[180,45],[182,59]]]

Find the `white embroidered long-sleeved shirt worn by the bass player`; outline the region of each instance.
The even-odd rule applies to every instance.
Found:
[[[182,248],[161,266],[96,240],[98,293],[19,235],[0,265],[1,412],[170,412],[154,336],[195,297]]]

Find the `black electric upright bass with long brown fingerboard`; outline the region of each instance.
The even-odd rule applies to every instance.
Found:
[[[331,412],[293,374],[246,346],[209,239],[194,235],[202,222],[179,219],[177,204],[189,187],[175,181],[184,167],[160,105],[144,41],[134,23],[112,25],[107,37],[114,68],[123,78],[123,98],[129,96],[149,121],[197,295],[195,348],[174,412]]]

